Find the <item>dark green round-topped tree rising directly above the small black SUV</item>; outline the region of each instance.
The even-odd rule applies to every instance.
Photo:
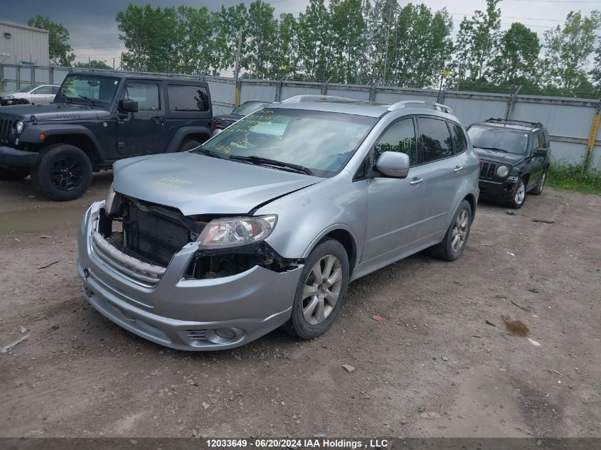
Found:
[[[503,33],[499,55],[492,62],[496,83],[537,85],[540,82],[538,53],[541,43],[536,33],[523,23],[512,23]]]

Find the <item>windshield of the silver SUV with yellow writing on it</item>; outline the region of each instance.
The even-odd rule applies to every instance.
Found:
[[[270,159],[329,177],[344,167],[376,122],[375,117],[353,114],[265,108],[240,119],[198,151],[238,161]]]

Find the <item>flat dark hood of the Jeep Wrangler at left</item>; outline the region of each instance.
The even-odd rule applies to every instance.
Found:
[[[107,109],[90,109],[87,105],[65,105],[65,103],[4,106],[1,107],[0,113],[21,117],[25,122],[31,121],[32,115],[38,122],[97,120],[110,117]]]

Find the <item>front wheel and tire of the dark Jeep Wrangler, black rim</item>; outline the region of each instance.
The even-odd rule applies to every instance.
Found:
[[[52,144],[40,152],[31,179],[52,200],[74,200],[92,181],[92,162],[78,147]]]

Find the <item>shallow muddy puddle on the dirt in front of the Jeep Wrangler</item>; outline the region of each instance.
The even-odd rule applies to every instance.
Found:
[[[0,213],[0,235],[11,232],[43,232],[75,230],[80,226],[87,206],[68,208],[36,208]]]

